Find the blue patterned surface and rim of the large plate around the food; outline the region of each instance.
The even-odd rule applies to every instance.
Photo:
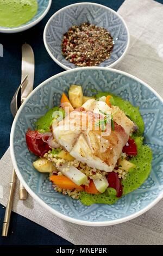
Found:
[[[81,84],[84,95],[90,89],[109,91],[140,107],[145,121],[145,143],[153,150],[152,172],[136,191],[122,197],[114,205],[85,206],[68,196],[54,192],[46,174],[32,165],[25,133],[41,115],[59,105],[62,92],[71,84]],[[55,75],[41,83],[19,109],[11,129],[11,157],[18,178],[43,207],[64,220],[83,225],[112,225],[141,215],[163,197],[163,101],[147,84],[125,72],[105,68],[78,68]]]

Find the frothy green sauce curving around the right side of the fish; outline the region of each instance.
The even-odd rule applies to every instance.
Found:
[[[97,98],[101,96],[112,95],[110,93],[98,93]],[[136,168],[131,168],[125,180],[122,180],[123,195],[130,193],[139,188],[143,182],[148,178],[151,172],[152,150],[147,145],[143,145],[142,135],[144,131],[144,123],[139,112],[138,107],[134,107],[130,102],[121,99],[118,96],[112,95],[112,105],[116,105],[128,115],[128,117],[135,122],[139,130],[133,136],[137,145],[137,155],[132,157],[129,161],[136,165]],[[114,188],[107,188],[103,194],[88,194],[86,192],[80,193],[80,202],[85,205],[91,204],[114,204],[118,199]]]

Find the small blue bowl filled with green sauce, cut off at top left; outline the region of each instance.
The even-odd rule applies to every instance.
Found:
[[[0,32],[25,31],[48,13],[52,0],[0,0]]]

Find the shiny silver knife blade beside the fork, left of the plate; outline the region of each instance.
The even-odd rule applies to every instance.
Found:
[[[32,47],[29,44],[22,45],[22,81],[28,75],[27,86],[21,89],[21,104],[32,92],[34,84],[35,60]]]

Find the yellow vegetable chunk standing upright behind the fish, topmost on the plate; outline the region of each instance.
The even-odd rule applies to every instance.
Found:
[[[68,92],[69,100],[74,108],[81,107],[83,104],[83,90],[81,86],[72,84]]]

